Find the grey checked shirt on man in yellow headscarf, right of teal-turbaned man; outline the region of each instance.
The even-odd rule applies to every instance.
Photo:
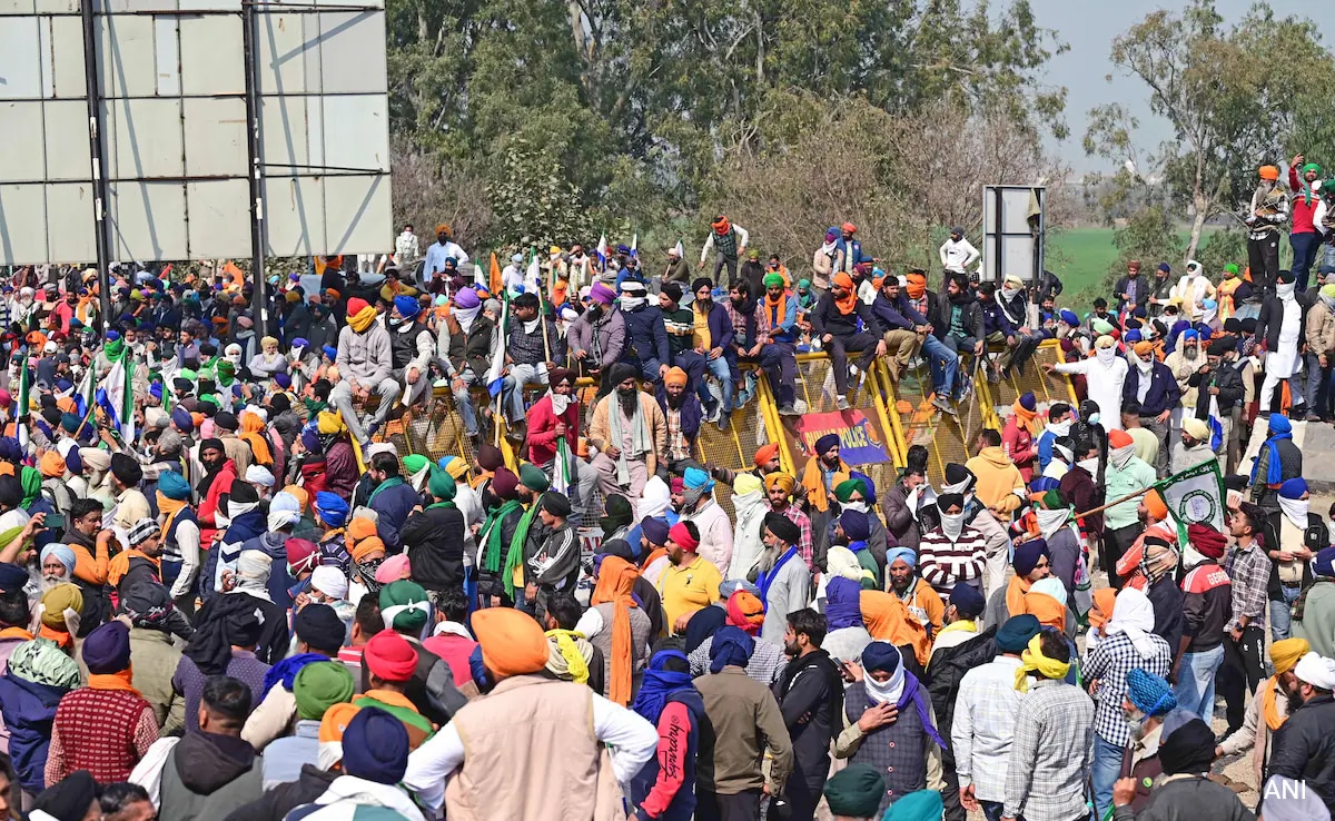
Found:
[[[1088,817],[1084,784],[1091,766],[1093,704],[1089,697],[1080,688],[1060,681],[1032,682],[1015,716],[1001,814],[1025,821]]]

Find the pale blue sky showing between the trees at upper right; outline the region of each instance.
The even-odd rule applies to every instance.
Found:
[[[1172,136],[1168,123],[1149,115],[1145,105],[1147,89],[1139,79],[1113,71],[1109,60],[1112,39],[1141,21],[1159,8],[1181,8],[1183,4],[1161,0],[1031,0],[1039,25],[1051,28],[1068,44],[1071,51],[1049,61],[1047,83],[1067,87],[1067,124],[1071,136],[1049,147],[1081,175],[1088,171],[1111,171],[1099,158],[1087,158],[1080,140],[1085,132],[1085,115],[1095,105],[1121,103],[1140,120],[1136,144],[1141,156]],[[1251,8],[1251,0],[1215,0],[1215,8],[1230,23],[1242,19]],[[1276,17],[1290,15],[1311,17],[1311,9],[1320,4],[1311,0],[1270,0]],[[1330,41],[1326,43],[1330,47]],[[1104,80],[1112,73],[1112,81]]]

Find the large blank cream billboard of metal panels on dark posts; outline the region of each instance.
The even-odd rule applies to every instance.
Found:
[[[0,264],[391,242],[383,0],[0,0]]]

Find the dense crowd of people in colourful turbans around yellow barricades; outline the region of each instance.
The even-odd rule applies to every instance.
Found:
[[[1051,275],[979,282],[963,228],[939,291],[856,236],[797,272],[720,216],[694,280],[599,243],[494,282],[407,227],[270,304],[119,268],[108,316],[95,271],[16,271],[0,812],[1240,820],[1250,788],[1328,818],[1335,547],[1294,429],[1335,400],[1335,283],[1262,238],[1218,282],[1133,262],[1080,316]],[[1077,400],[1020,395],[941,475],[916,446],[878,486],[838,434],[701,457],[757,379],[801,413],[801,350],[841,408],[881,359],[949,414],[1049,339]],[[438,402],[453,455],[388,441]],[[1165,501],[1202,466],[1223,529]]]

